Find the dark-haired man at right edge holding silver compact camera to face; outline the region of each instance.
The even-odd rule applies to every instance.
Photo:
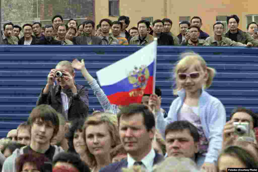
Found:
[[[254,128],[257,127],[258,116],[252,110],[238,107],[230,114],[223,130],[223,147],[232,145],[238,137],[253,138],[256,142]]]

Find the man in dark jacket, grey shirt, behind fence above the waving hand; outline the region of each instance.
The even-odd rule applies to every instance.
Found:
[[[92,35],[95,23],[92,20],[83,22],[84,35],[77,36],[74,44],[77,45],[102,45],[102,40],[98,36]]]

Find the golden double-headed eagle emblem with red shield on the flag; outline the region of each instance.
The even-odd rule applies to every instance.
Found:
[[[141,65],[139,68],[134,67],[128,75],[128,81],[133,84],[134,88],[145,89],[148,79],[150,77],[150,72],[145,65]]]

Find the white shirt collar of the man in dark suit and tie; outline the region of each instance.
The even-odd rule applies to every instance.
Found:
[[[141,160],[141,162],[144,164],[146,169],[150,172],[152,171],[153,162],[155,158],[155,151],[153,148],[151,148],[150,152]],[[136,162],[128,153],[127,154],[127,162],[128,162],[128,168],[132,167],[134,162]]]

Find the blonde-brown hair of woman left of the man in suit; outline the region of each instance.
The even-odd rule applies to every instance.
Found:
[[[90,116],[86,119],[84,122],[83,126],[83,136],[84,140],[86,143],[86,128],[88,126],[96,126],[100,124],[106,124],[107,125],[107,130],[109,131],[109,134],[111,136],[112,142],[111,142],[111,147],[110,150],[115,148],[117,145],[121,144],[120,138],[119,138],[119,133],[118,133],[118,123],[117,123],[117,118],[116,115],[114,114],[107,114],[107,113],[100,113],[96,114],[94,116]],[[111,152],[111,151],[110,151]],[[111,156],[111,153],[110,153]],[[113,157],[111,156],[111,159]],[[88,150],[88,146],[86,144],[86,163],[92,168],[97,165],[96,159],[92,153]]]

